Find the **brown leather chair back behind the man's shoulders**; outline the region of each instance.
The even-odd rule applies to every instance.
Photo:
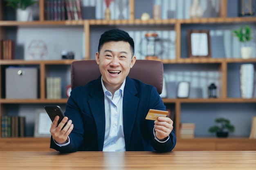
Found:
[[[159,94],[163,88],[163,63],[155,60],[136,60],[128,77],[139,79],[145,84],[157,88]],[[71,64],[71,88],[83,86],[101,75],[95,60],[79,60]]]

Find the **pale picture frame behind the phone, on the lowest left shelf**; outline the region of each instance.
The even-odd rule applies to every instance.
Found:
[[[34,137],[51,137],[52,121],[44,109],[36,110]]]

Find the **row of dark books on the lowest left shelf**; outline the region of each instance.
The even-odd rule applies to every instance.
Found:
[[[2,116],[1,136],[5,137],[25,137],[25,117]]]

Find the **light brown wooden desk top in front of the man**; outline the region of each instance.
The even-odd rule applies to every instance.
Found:
[[[256,170],[256,151],[0,152],[1,170]]]

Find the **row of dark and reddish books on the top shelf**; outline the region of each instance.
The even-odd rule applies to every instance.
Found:
[[[82,20],[81,0],[45,0],[45,20]]]

